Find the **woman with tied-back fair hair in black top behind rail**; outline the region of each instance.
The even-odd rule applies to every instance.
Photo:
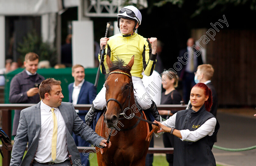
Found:
[[[178,86],[179,77],[172,71],[165,71],[162,74],[162,85],[165,92],[162,92],[161,103],[160,104],[180,104],[182,100],[180,92],[175,88]],[[168,119],[176,111],[170,110],[158,110],[162,118]],[[163,134],[163,142],[165,147],[173,147],[174,136],[170,133]],[[166,160],[169,166],[173,165],[173,154],[166,154]]]

